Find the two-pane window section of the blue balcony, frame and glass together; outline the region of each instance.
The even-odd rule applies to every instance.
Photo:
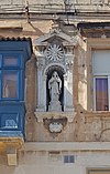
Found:
[[[20,91],[22,91],[22,63],[20,54],[1,54],[0,76],[0,100],[20,100]]]

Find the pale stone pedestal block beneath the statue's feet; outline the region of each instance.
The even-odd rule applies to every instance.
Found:
[[[62,105],[59,101],[51,101],[48,105],[48,111],[62,111]]]

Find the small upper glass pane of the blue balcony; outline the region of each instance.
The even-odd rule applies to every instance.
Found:
[[[18,59],[6,57],[3,60],[3,65],[18,65]]]

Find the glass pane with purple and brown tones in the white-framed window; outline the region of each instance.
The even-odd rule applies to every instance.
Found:
[[[108,111],[108,79],[97,78],[96,79],[96,110]]]

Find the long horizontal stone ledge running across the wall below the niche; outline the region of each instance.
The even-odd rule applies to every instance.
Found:
[[[24,151],[110,151],[110,142],[26,142]]]

